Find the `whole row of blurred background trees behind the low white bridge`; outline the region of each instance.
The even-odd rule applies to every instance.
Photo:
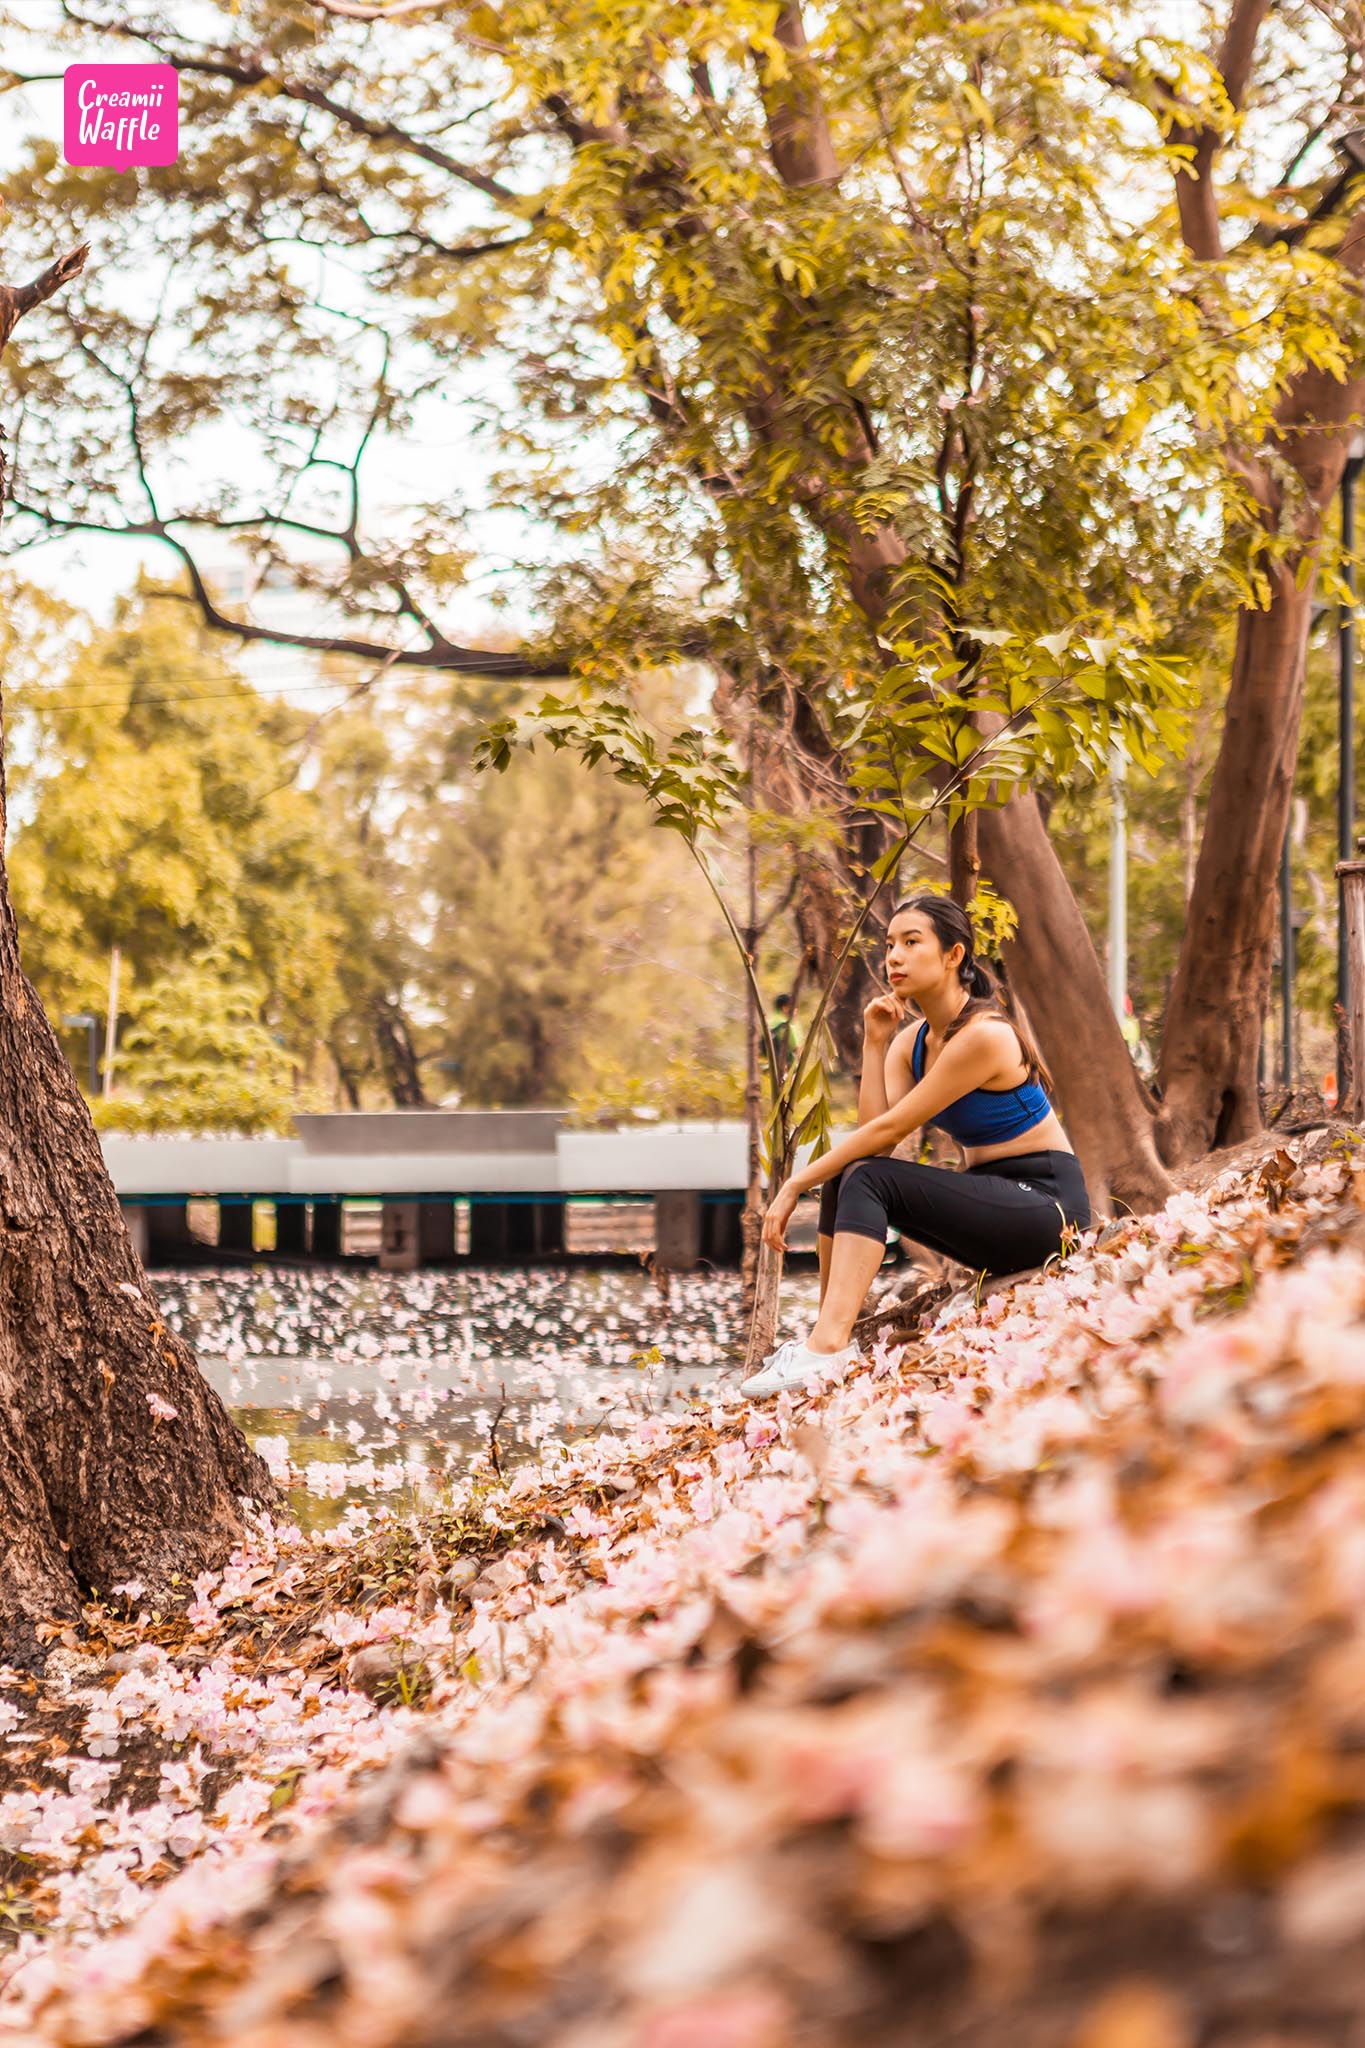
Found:
[[[29,588],[8,618],[27,969],[57,1022],[102,1020],[121,952],[102,1124],[442,1098],[739,1114],[714,905],[606,772],[475,776],[471,721],[393,678],[383,717],[262,696],[166,596],[90,631]],[[675,711],[667,678],[647,696]]]

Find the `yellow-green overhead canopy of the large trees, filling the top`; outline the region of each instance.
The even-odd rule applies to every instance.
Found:
[[[491,764],[528,737],[577,745],[600,698],[583,760],[696,846],[743,791],[733,756],[702,735],[651,754],[626,698],[649,668],[708,662],[780,731],[800,702],[853,762],[857,807],[886,825],[872,872],[931,807],[1033,780],[1093,918],[1087,776],[1119,737],[1134,829],[1152,834],[1136,883],[1156,989],[1183,907],[1158,805],[1183,788],[1195,698],[1218,700],[1203,657],[1271,567],[1312,569],[1277,408],[1365,340],[1340,225],[1300,231],[1338,27],[1306,37],[1300,8],[1273,10],[1236,121],[1201,49],[1160,27],[1052,0],[872,0],[812,10],[806,61],[757,0],[450,0],[401,25],[211,0],[176,27],[176,166],[74,172],[49,145],[10,180],[35,242],[94,221],[111,248],[80,332],[55,307],[25,352],[12,530],[51,512],[137,524],[143,455],[231,420],[278,479],[231,504],[260,559],[297,563],[297,528],[332,532],[303,582],[397,645],[477,559],[477,494],[442,473],[366,551],[332,451],[338,422],[364,444],[438,389],[483,414],[491,508],[516,520],[499,535],[524,537],[497,582],[571,678],[530,725],[491,727]],[[111,47],[143,53],[147,29],[166,37],[164,8],[129,0]],[[254,53],[235,82],[223,51]],[[1191,262],[1175,121],[1205,111],[1230,133],[1226,254]],[[1287,133],[1308,152],[1293,190]],[[823,145],[784,172],[784,150]],[[127,311],[115,246],[125,272],[166,264],[166,299],[139,301],[168,305],[160,324]],[[338,264],[315,289],[317,248]],[[1269,512],[1248,453],[1275,479]],[[217,504],[201,477],[194,504]],[[1197,743],[1203,774],[1216,731]],[[819,1081],[794,1077],[792,1104],[821,1126]]]

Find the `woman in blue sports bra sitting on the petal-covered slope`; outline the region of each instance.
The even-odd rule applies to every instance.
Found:
[[[986,1274],[1042,1266],[1062,1231],[1087,1229],[1085,1176],[1052,1102],[1029,1032],[976,958],[972,920],[952,897],[898,903],[886,928],[886,979],[864,1012],[857,1130],[784,1180],[763,1243],[786,1249],[802,1194],[821,1188],[821,1309],[804,1341],[769,1352],[747,1395],[843,1378],[860,1356],[853,1323],[886,1253],[886,1231]],[[913,1001],[923,1022],[905,1022]],[[966,1171],[892,1159],[921,1124],[962,1147]]]

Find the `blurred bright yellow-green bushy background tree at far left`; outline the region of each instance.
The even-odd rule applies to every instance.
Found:
[[[260,696],[166,598],[125,600],[72,657],[74,635],[68,618],[65,664],[20,662],[8,692],[10,881],[49,1012],[104,1014],[113,946],[133,1026],[188,961],[233,958],[303,1075],[321,1085],[338,1055],[379,1073],[375,1006],[401,989],[403,907],[368,829],[387,752],[366,721],[323,727],[317,745],[309,713]]]

